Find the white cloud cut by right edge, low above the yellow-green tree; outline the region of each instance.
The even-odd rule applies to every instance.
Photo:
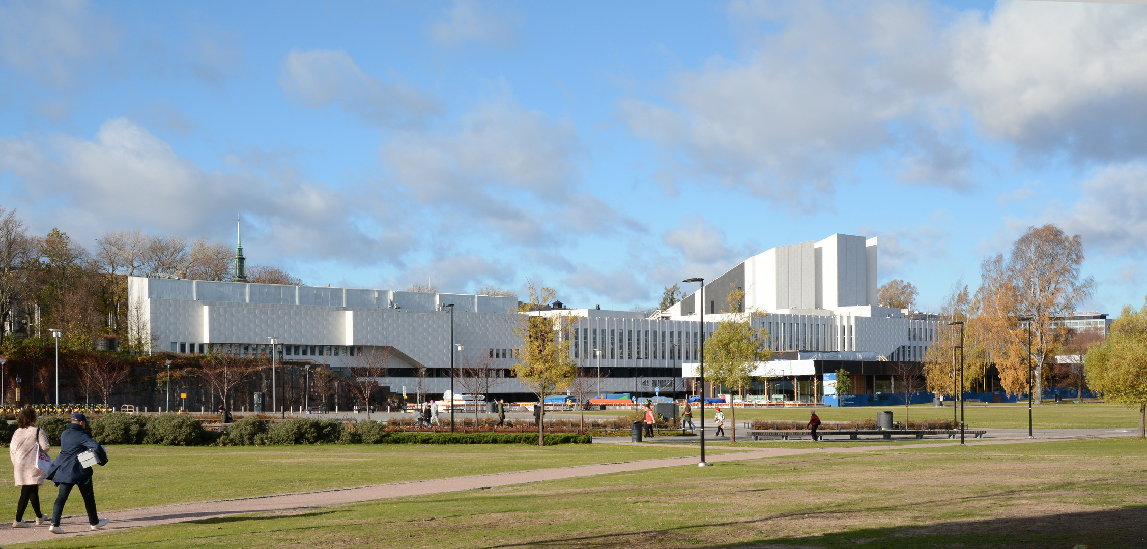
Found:
[[[1087,248],[1141,256],[1147,250],[1147,164],[1132,162],[1099,170],[1084,181],[1083,195],[1068,209],[1045,212]]]

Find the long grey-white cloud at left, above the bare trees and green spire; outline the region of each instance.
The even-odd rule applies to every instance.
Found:
[[[106,121],[91,141],[62,135],[0,141],[0,172],[10,171],[17,181],[7,189],[9,197],[36,215],[29,221],[41,233],[58,225],[84,244],[106,232],[140,227],[229,240],[241,213],[256,225],[252,241],[288,256],[373,262],[405,251],[360,230],[359,218],[374,214],[352,211],[343,191],[239,167],[204,170],[123,118]],[[368,202],[359,196],[356,203]],[[348,249],[357,251],[344,253]]]

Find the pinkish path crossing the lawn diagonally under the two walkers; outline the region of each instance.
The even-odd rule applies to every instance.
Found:
[[[658,438],[658,440],[668,437]],[[695,437],[693,437],[696,440]],[[708,440],[708,438],[707,438]],[[717,440],[717,439],[713,439]],[[1046,440],[1046,439],[1045,439]],[[977,440],[969,441],[969,445],[997,445],[1014,442],[1039,442],[1040,439],[1023,440]],[[612,441],[615,444],[631,444],[626,440]],[[952,446],[952,441],[919,444],[912,448],[930,448]],[[900,449],[904,446],[863,446],[863,447],[827,447],[827,448],[764,448],[750,452],[729,453],[708,456],[710,463],[728,461],[759,460],[765,457],[781,457],[799,454],[824,454],[824,453],[864,453],[882,449]],[[728,448],[721,448],[727,450]],[[645,469],[658,469],[666,466],[696,465],[697,457],[670,457],[660,460],[641,460],[624,463],[602,463],[596,465],[577,465],[556,469],[538,469],[533,471],[518,471],[496,475],[478,475],[473,477],[458,477],[436,480],[421,480],[412,483],[393,483],[375,486],[361,486],[357,488],[338,488],[320,492],[307,492],[298,494],[283,494],[263,497],[247,497],[237,500],[223,500],[214,502],[185,503],[177,505],[151,507],[143,509],[131,509],[101,513],[101,518],[110,519],[110,524],[99,532],[114,532],[139,526],[155,526],[161,524],[186,523],[190,520],[203,520],[209,518],[226,517],[240,513],[258,513],[278,511],[283,509],[298,509],[315,505],[345,504],[370,500],[383,500],[390,497],[406,497],[413,495],[440,494],[444,492],[455,492],[465,489],[487,488],[494,486],[507,486],[525,483],[538,483],[543,480],[557,480],[576,477],[591,477],[595,475],[607,475],[615,472],[639,471]],[[75,496],[78,497],[78,496]],[[99,494],[96,494],[99,499]],[[24,543],[38,540],[65,538],[72,535],[95,533],[87,527],[87,516],[80,515],[65,518],[61,521],[61,527],[67,534],[57,535],[48,532],[47,525],[33,526],[31,528],[10,528],[0,526],[0,543]]]

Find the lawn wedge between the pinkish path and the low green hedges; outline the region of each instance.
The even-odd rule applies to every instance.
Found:
[[[58,448],[53,448],[53,456]],[[323,445],[267,447],[108,446],[96,468],[101,510],[283,494],[404,480],[525,471],[693,455],[689,448],[615,445]],[[19,491],[0,460],[0,512],[15,516]],[[40,488],[50,510],[55,486]],[[79,502],[79,500],[76,500]],[[81,512],[83,503],[67,512]]]

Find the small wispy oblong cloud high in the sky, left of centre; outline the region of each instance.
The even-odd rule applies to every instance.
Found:
[[[367,76],[342,50],[291,50],[282,61],[279,86],[306,107],[337,103],[377,125],[419,121],[439,111],[437,101],[413,86]]]

